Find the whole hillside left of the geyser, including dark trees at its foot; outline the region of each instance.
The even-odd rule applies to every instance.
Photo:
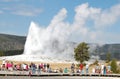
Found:
[[[25,40],[25,36],[0,34],[0,51],[5,56],[22,53]]]

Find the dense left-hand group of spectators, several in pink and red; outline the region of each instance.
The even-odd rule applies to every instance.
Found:
[[[29,71],[30,74],[34,74],[36,71],[38,73],[41,72],[51,72],[51,68],[49,63],[40,63],[40,64],[35,64],[35,63],[20,63],[20,64],[14,64],[11,61],[6,61],[3,60],[2,64],[0,66],[0,70],[5,71]]]

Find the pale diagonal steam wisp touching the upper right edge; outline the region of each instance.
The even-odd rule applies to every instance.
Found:
[[[110,9],[101,11],[97,16],[94,16],[95,27],[105,28],[114,24],[120,18],[120,4],[112,6]]]

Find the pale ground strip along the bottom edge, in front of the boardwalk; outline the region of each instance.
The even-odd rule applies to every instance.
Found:
[[[120,79],[119,77],[89,77],[89,76],[0,76],[0,79]]]

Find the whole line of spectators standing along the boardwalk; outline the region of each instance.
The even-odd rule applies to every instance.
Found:
[[[86,64],[79,64],[76,65],[74,63],[71,64],[69,68],[60,68],[53,70],[50,67],[49,63],[40,63],[40,64],[14,64],[13,62],[3,60],[0,70],[8,70],[8,71],[29,71],[29,74],[35,74],[36,72],[41,74],[41,72],[47,72],[47,73],[81,73],[81,74],[108,74],[111,73],[111,67],[105,66],[104,64],[96,65],[92,67],[92,71],[90,71],[90,65]]]

